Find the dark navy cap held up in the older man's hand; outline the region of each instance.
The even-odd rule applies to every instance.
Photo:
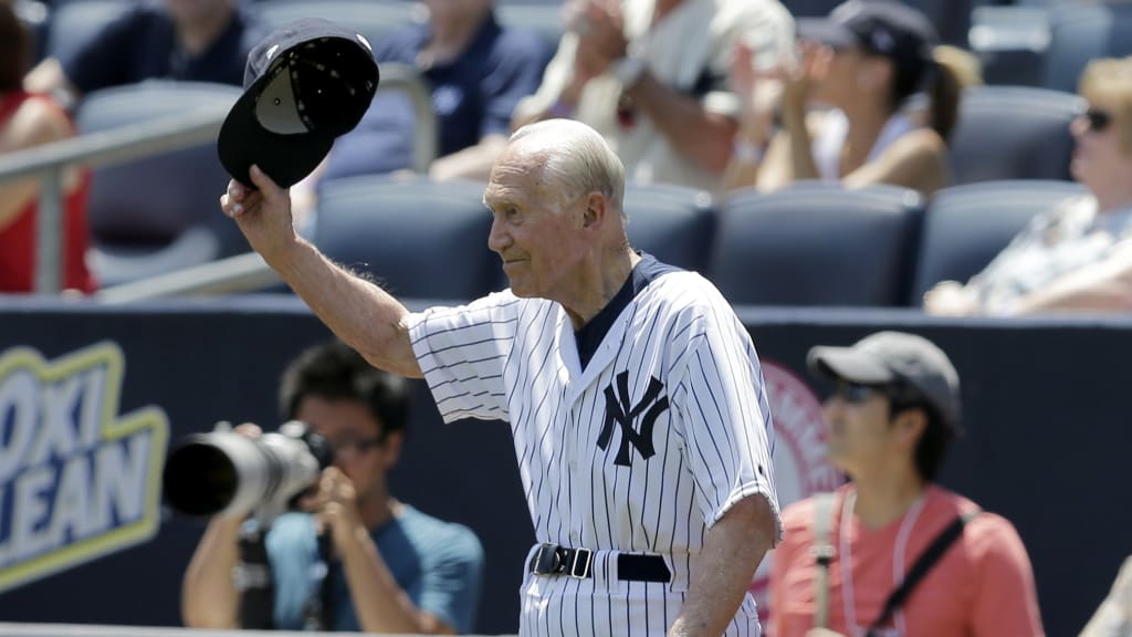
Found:
[[[378,80],[374,51],[353,29],[317,18],[280,28],[248,53],[243,95],[220,129],[221,163],[248,187],[251,164],[281,187],[295,184],[358,126]]]

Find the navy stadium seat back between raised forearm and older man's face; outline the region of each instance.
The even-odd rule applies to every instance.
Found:
[[[314,241],[334,261],[366,272],[392,294],[469,300],[501,289],[488,249],[483,185],[380,176],[327,181]]]

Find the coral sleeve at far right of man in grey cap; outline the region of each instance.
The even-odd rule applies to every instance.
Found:
[[[971,525],[976,592],[971,635],[1044,635],[1030,558],[1004,518],[981,513]]]

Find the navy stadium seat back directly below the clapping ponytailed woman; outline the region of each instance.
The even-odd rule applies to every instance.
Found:
[[[917,193],[891,186],[735,193],[709,277],[735,304],[904,305],[921,213]]]

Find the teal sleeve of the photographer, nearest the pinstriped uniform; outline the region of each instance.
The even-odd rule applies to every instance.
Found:
[[[471,529],[451,525],[443,544],[431,550],[431,563],[424,569],[420,610],[457,634],[472,632],[480,603],[483,547]]]

